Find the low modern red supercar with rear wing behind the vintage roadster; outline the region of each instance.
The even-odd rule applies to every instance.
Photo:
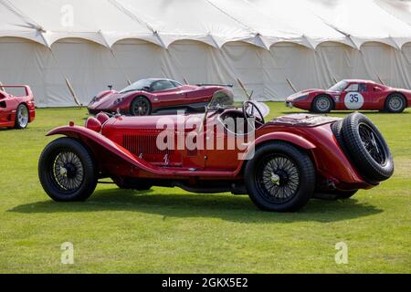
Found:
[[[177,81],[148,78],[116,90],[105,90],[91,99],[90,114],[100,111],[117,112],[132,116],[170,113],[176,110],[204,111],[213,94],[221,86],[182,85]]]

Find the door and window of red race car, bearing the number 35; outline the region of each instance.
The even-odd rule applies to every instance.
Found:
[[[342,110],[367,110],[370,107],[368,85],[362,82],[352,82],[342,91]]]

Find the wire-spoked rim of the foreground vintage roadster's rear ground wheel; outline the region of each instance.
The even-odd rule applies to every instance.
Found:
[[[300,187],[297,165],[283,154],[272,154],[258,164],[256,183],[266,200],[272,203],[290,201]]]

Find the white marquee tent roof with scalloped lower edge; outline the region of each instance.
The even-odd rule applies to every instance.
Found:
[[[377,41],[401,48],[411,41],[410,7],[399,0],[0,0],[0,36],[45,46],[79,37],[106,47],[139,38],[163,47],[192,39],[213,47]]]

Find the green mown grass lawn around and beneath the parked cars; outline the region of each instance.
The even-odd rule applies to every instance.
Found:
[[[297,111],[269,106],[270,117]],[[55,203],[37,178],[38,156],[56,139],[45,134],[83,124],[85,114],[37,110],[26,130],[0,130],[1,273],[411,272],[411,110],[366,112],[391,147],[394,177],[295,214],[258,211],[248,196],[113,184],[85,203]],[[60,263],[64,242],[74,245],[74,265]],[[346,265],[334,261],[338,242],[348,245]]]

